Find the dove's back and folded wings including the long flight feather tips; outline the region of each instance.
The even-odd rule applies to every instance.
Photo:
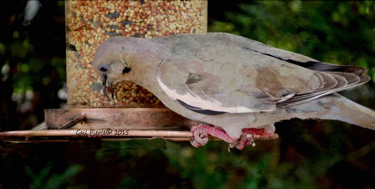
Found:
[[[201,113],[272,111],[370,80],[365,68],[319,62],[228,33],[151,40],[173,46],[158,68],[160,86]]]

